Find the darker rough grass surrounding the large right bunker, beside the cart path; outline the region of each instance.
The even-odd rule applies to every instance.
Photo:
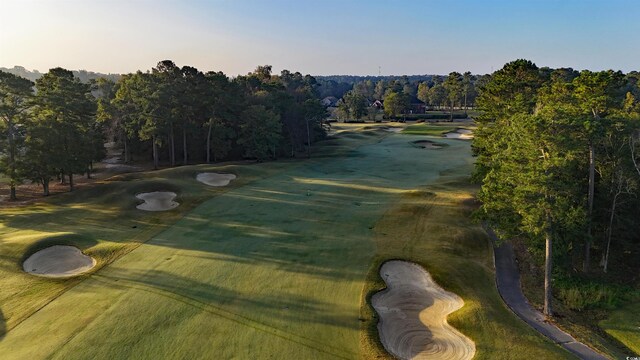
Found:
[[[403,195],[376,224],[377,251],[360,315],[363,358],[391,358],[378,340],[370,299],[385,287],[378,272],[392,259],[422,265],[439,285],[464,299],[464,307],[449,315],[448,322],[475,342],[475,359],[573,358],[517,319],[502,302],[486,234],[470,221],[476,189],[464,173],[450,172],[438,183]]]

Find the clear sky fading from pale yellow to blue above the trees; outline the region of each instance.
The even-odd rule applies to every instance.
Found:
[[[640,70],[636,0],[0,0],[0,66],[245,74]]]

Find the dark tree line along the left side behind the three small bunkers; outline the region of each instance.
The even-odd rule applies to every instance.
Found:
[[[176,166],[231,158],[295,156],[326,135],[326,109],[310,75],[271,66],[230,79],[222,72],[151,69],[83,83],[62,68],[35,83],[0,71],[0,172],[11,199],[25,180],[49,194],[52,179],[91,176],[104,144],[124,149],[124,162]]]

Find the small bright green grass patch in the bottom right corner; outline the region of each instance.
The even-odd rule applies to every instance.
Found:
[[[621,342],[640,356],[640,304],[629,304],[610,313],[600,327],[611,337]],[[629,354],[631,355],[631,354]]]

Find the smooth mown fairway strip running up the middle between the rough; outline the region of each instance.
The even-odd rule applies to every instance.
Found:
[[[360,357],[360,304],[376,254],[375,224],[410,190],[471,169],[467,142],[439,140],[449,146],[425,152],[410,144],[417,139],[367,137],[358,141],[368,145],[346,156],[280,165],[283,171],[212,193],[173,226],[12,325],[0,354]],[[185,184],[203,187],[184,175],[192,182],[182,183],[186,198]],[[478,347],[489,355],[503,350]]]

